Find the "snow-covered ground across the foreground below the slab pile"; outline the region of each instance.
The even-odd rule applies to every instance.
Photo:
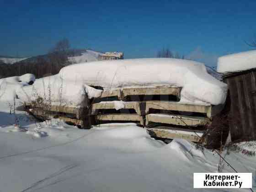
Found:
[[[38,123],[23,111],[14,113],[14,91],[10,84],[9,100],[0,98],[0,192],[216,191],[192,188],[193,172],[218,171],[219,156],[210,150],[182,139],[164,144],[133,123],[90,130],[58,119]],[[238,172],[252,172],[256,190],[256,157],[223,155]],[[224,164],[222,172],[232,170]]]

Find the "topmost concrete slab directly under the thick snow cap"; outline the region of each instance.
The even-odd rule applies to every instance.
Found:
[[[175,95],[180,97],[181,87],[138,87],[138,88],[123,88],[122,95]]]

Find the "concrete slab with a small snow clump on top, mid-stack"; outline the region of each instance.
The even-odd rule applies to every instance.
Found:
[[[117,101],[118,102],[118,101]],[[120,101],[119,101],[120,102]],[[122,102],[124,107],[122,109],[134,109],[137,114],[141,115],[140,102]],[[94,103],[91,107],[91,114],[96,114],[96,110],[99,109],[115,109],[115,101],[101,101],[100,103]]]

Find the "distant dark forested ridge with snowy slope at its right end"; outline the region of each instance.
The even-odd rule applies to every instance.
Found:
[[[63,52],[52,52],[29,58],[0,58],[0,78],[20,76],[27,73],[37,78],[45,75],[55,75],[69,64],[86,63],[99,60],[101,52],[91,49],[70,49]]]

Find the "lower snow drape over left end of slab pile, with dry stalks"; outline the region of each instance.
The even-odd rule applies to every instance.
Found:
[[[89,98],[98,97],[102,91],[85,85],[81,81],[62,80],[59,75],[53,75],[37,79],[33,85],[21,87],[16,92],[18,97],[26,102],[35,101],[41,97],[44,103],[78,107],[83,105],[86,94]]]

